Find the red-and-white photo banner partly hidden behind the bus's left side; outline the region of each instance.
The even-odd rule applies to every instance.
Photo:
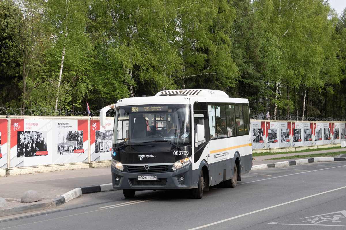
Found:
[[[90,120],[90,161],[111,160],[114,120]]]

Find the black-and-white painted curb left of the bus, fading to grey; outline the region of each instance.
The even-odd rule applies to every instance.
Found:
[[[41,202],[41,203],[26,203],[24,205],[20,205],[17,207],[2,207],[0,208],[0,217],[9,216],[14,214],[20,214],[25,212],[39,211],[48,208],[55,208],[63,203],[66,203],[74,198],[81,196],[84,193],[92,193],[92,192],[105,192],[111,191],[113,189],[112,183],[110,184],[100,184],[95,186],[81,187],[75,188],[65,194],[62,194],[60,197],[55,198],[52,201]]]

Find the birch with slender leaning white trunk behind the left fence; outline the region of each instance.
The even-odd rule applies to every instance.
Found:
[[[69,62],[74,67],[70,72],[70,79],[73,93],[76,93],[79,100],[72,102],[72,107],[80,101],[80,98],[90,89],[87,78],[84,78],[84,71],[92,60],[85,60],[88,55],[89,42],[85,36],[86,21],[88,20],[87,10],[89,3],[78,0],[48,0],[45,4],[45,16],[49,29],[52,33],[54,46],[54,56],[60,56],[59,71],[56,84],[55,110],[58,107],[59,96],[61,96],[61,84],[63,78],[63,68],[65,62]],[[78,84],[76,82],[78,81]],[[66,94],[66,91],[63,92]],[[72,96],[72,98],[74,98]]]

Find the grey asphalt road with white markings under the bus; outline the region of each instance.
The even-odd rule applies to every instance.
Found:
[[[0,218],[2,229],[346,229],[346,164],[317,162],[256,170],[236,188],[83,194],[48,211]]]

